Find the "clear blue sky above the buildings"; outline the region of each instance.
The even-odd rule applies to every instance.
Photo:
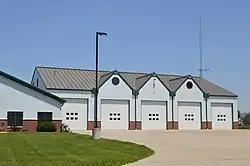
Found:
[[[35,66],[198,75],[203,14],[204,77],[250,104],[248,0],[0,1],[0,68],[30,81]]]

